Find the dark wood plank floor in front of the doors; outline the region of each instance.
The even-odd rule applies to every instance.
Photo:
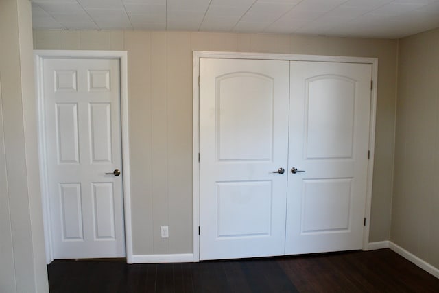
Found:
[[[54,261],[50,292],[439,292],[439,279],[389,249],[132,264]]]

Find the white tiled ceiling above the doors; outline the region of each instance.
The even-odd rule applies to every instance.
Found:
[[[34,29],[401,38],[439,27],[439,0],[32,0],[32,17]]]

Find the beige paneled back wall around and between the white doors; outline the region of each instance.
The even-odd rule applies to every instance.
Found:
[[[193,50],[379,58],[370,242],[388,239],[396,40],[217,32],[36,30],[34,48],[128,51],[134,255],[192,252]],[[169,226],[169,239],[161,239],[160,226]]]

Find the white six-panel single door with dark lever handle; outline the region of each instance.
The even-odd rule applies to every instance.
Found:
[[[119,60],[45,59],[54,259],[124,257]]]

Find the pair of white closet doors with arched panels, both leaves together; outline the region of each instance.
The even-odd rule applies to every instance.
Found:
[[[200,259],[361,249],[372,65],[200,59]]]

